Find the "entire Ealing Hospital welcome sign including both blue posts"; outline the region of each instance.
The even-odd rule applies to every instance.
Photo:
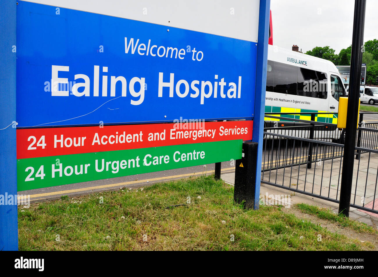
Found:
[[[0,1],[0,195],[240,159],[246,140],[261,166],[270,0]]]

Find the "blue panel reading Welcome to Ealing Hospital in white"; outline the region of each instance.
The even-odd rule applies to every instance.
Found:
[[[17,127],[253,118],[257,44],[17,6]]]

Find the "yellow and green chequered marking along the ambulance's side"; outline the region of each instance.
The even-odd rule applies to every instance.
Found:
[[[328,111],[319,111],[319,110],[307,110],[299,108],[286,108],[286,107],[275,107],[275,106],[265,106],[265,113],[293,113],[293,115],[274,115],[282,116],[286,118],[302,119],[302,120],[311,120],[311,115],[296,115],[296,113],[328,113]],[[269,118],[265,117],[265,121],[288,121],[287,119],[278,119],[278,118]],[[315,121],[337,124],[337,115],[315,115]]]

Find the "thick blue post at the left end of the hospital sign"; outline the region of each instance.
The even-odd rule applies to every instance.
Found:
[[[0,250],[18,250],[16,176],[16,2],[0,0]]]

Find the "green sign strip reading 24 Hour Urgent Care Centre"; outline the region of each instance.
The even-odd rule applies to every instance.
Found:
[[[238,139],[18,159],[17,190],[39,189],[241,158],[242,140]]]

